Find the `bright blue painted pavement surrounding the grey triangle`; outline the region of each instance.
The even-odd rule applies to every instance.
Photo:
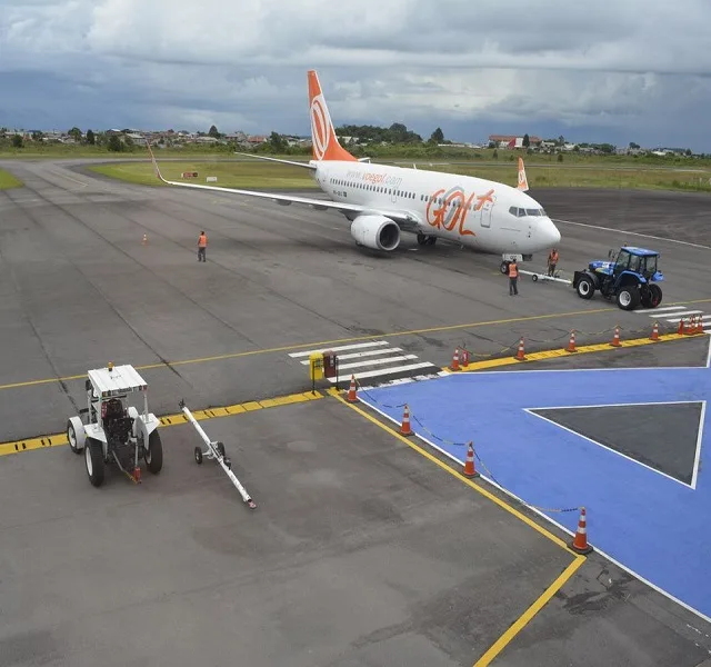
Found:
[[[710,619],[711,429],[704,430],[693,489],[525,411],[708,400],[710,369],[474,372],[371,389],[359,398],[398,422],[407,402],[415,434],[462,464],[465,447],[428,431],[450,442],[472,440],[495,481],[529,505],[584,506],[593,546]],[[707,410],[707,427],[709,419]],[[578,526],[578,511],[543,514],[571,531]]]

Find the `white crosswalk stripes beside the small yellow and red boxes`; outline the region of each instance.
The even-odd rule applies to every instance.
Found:
[[[423,380],[439,377],[441,370],[429,361],[417,361],[418,356],[407,354],[400,347],[391,347],[387,340],[371,340],[368,342],[357,342],[338,347],[324,347],[313,350],[291,352],[289,357],[298,359],[302,366],[309,366],[308,357],[314,352],[333,351],[338,357],[339,381],[348,382],[351,375],[357,380],[364,378],[378,378],[390,376],[390,382]],[[344,355],[339,352],[346,351]],[[306,358],[304,358],[306,357]],[[412,361],[412,364],[408,364]],[[373,368],[380,367],[380,368]],[[424,369],[431,372],[423,374]],[[336,384],[336,378],[328,378],[331,384]]]

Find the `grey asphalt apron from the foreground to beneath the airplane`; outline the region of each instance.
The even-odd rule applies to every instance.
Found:
[[[564,286],[524,279],[520,296],[511,298],[499,257],[439,242],[420,247],[407,235],[395,252],[375,256],[356,247],[348,221],[337,213],[132,186],[90,176],[67,160],[0,167],[26,185],[0,192],[0,336],[6,342],[0,441],[63,431],[67,418],[83,405],[87,370],[108,361],[141,368],[151,410],[167,415],[178,411],[181,398],[200,410],[310,390],[303,361],[317,349],[337,350],[348,378],[353,372],[374,387],[438,377],[455,348],[470,350],[475,360],[512,346],[515,354],[520,337],[529,349],[564,347],[571,329],[578,345],[610,339],[617,325],[623,337],[649,336],[657,319],[672,330],[685,313],[710,313],[704,322],[711,326],[711,250],[704,247],[711,247],[711,211],[708,198],[699,196],[531,192],[552,218],[570,221],[559,223],[563,271],[605,259],[623,242],[661,251],[663,310],[650,313],[624,312],[599,298],[581,300]],[[631,238],[601,228],[669,238]],[[196,253],[201,230],[210,239],[206,263]],[[534,257],[530,266],[544,263],[544,257]],[[634,364],[650,354],[630,350],[625,359]],[[0,558],[19,581],[4,589],[0,583],[0,593],[12,600],[6,611],[12,624],[0,630],[0,648],[10,646],[20,656],[3,663],[0,650],[0,667],[30,664],[32,656],[60,665],[63,658],[57,656],[73,655],[72,664],[90,664],[79,626],[62,626],[69,623],[60,614],[67,600],[77,618],[107,614],[134,630],[127,609],[138,605],[148,625],[123,665],[171,656],[180,664],[181,656],[198,649],[207,651],[196,654],[203,658],[226,660],[224,633],[237,626],[243,628],[240,641],[251,648],[253,665],[384,665],[404,658],[409,665],[473,664],[561,575],[571,554],[472,497],[473,491],[452,486],[407,445],[332,401],[206,425],[233,448],[239,444],[238,465],[266,507],[261,527],[267,532],[246,524],[253,517],[236,517],[240,508],[231,504],[229,482],[222,484],[219,471],[204,477],[204,469],[188,467],[193,446],[188,426],[166,429],[172,458],[167,454],[164,474],[148,479],[141,496],[119,479],[101,491],[90,488],[82,460],[67,447],[0,457],[2,528],[11,545]],[[93,502],[99,505],[88,509]],[[117,514],[112,502],[137,505]],[[120,598],[114,608],[72,594],[79,584],[72,578],[77,573],[69,571],[71,558],[80,556],[61,536],[69,530],[89,535],[82,512],[89,512],[91,530],[100,536],[81,556],[84,568],[113,548],[112,526],[137,549],[136,526],[157,531],[148,538],[154,554],[144,570],[153,577],[146,595],[112,581],[106,595]],[[188,528],[181,524],[186,516]],[[462,534],[468,519],[474,528]],[[391,536],[394,525],[401,532]],[[498,525],[505,525],[503,537]],[[62,556],[39,555],[42,545],[53,542],[44,542],[48,534],[33,526],[50,527]],[[422,550],[428,539],[434,541]],[[36,554],[27,569],[22,545]],[[183,556],[159,571],[160,563],[186,545]],[[289,575],[294,554],[298,564]],[[102,586],[100,574],[119,567],[119,560],[117,552],[106,569],[89,574],[94,588]],[[385,561],[390,565],[378,570],[379,578],[369,580]],[[197,569],[203,564],[200,575],[193,563]],[[37,571],[44,584],[61,580],[56,570],[69,577],[68,584],[51,587],[54,606],[33,616],[41,588],[31,588],[23,604],[16,586],[31,586]],[[130,571],[120,571],[128,580]],[[603,573],[611,584],[600,583],[607,581]],[[221,590],[218,581],[224,577],[230,584]],[[240,577],[249,581],[247,593]],[[525,577],[523,588],[518,577]],[[390,597],[379,603],[383,590]],[[241,594],[254,609],[256,624],[278,619],[271,635],[243,625],[247,617],[234,601]],[[624,595],[637,601],[628,605]],[[168,606],[159,601],[166,599]],[[164,628],[151,625],[150,609],[161,609],[164,627],[188,623],[179,599],[201,609],[200,633],[172,648],[151,646],[149,628],[168,639]],[[360,610],[350,616],[342,610],[349,599],[358,599]],[[585,561],[555,600],[555,611],[512,638],[508,657],[494,665],[547,665],[562,655],[578,659],[575,646],[583,646],[577,664],[692,667],[711,650],[711,630],[698,617],[602,558]],[[467,611],[482,604],[488,616]],[[373,605],[378,613],[365,623],[362,615]],[[204,620],[214,608],[224,617],[220,635],[211,635]],[[563,630],[551,629],[560,623]],[[23,634],[27,624],[32,640]],[[57,637],[60,626],[69,628],[66,641]],[[92,628],[99,631],[96,624]],[[333,641],[327,639],[331,633]],[[263,647],[274,636],[270,653]],[[609,641],[608,653],[599,637]],[[37,644],[40,639],[44,644]],[[104,636],[99,644],[110,648],[113,639]],[[33,654],[32,646],[46,649]]]

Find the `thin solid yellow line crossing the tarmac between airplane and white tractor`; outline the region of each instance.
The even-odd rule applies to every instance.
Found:
[[[695,299],[693,301],[675,301],[669,303],[670,306],[687,306],[692,303],[707,303],[711,302],[711,299]],[[301,348],[320,348],[326,346],[336,345],[338,342],[353,342],[358,340],[373,340],[377,338],[395,338],[397,336],[417,336],[419,334],[437,334],[441,331],[454,331],[457,329],[477,329],[479,327],[493,327],[497,325],[511,325],[515,322],[529,322],[542,319],[558,319],[562,317],[577,317],[583,315],[599,315],[601,312],[610,312],[610,308],[597,308],[594,310],[572,310],[569,312],[550,312],[548,315],[531,315],[527,317],[513,317],[509,319],[500,320],[485,320],[482,322],[469,322],[467,325],[449,325],[445,327],[430,327],[429,329],[411,329],[409,331],[391,331],[390,334],[379,334],[378,336],[353,336],[351,338],[336,338],[333,340],[321,340],[319,342],[302,342],[298,345],[286,345],[281,347],[264,348],[259,350],[249,350],[246,352],[230,352],[227,355],[217,355],[214,357],[200,357],[197,359],[182,359],[179,361],[169,361],[167,364],[146,364],[143,366],[136,366],[137,370],[151,370],[153,368],[174,368],[176,366],[186,366],[188,364],[207,364],[209,361],[224,361],[227,359],[239,359],[240,357],[253,357],[257,355],[271,355],[274,352],[287,352],[291,350],[298,350]],[[22,382],[11,382],[8,385],[0,385],[1,389],[19,389],[21,387],[33,387],[37,385],[49,385],[51,382],[67,382],[70,380],[82,380],[87,377],[86,374],[76,376],[64,376],[60,378],[44,378],[41,380],[26,380]]]

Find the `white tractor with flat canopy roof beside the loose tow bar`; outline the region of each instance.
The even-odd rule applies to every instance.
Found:
[[[74,454],[84,452],[87,475],[96,487],[103,484],[104,465],[116,462],[133,482],[141,480],[140,459],[158,475],[163,467],[160,420],[148,411],[148,385],[132,366],[109,364],[88,372],[87,407],[70,417],[67,439]],[[131,394],[143,395],[143,411],[128,405]]]

